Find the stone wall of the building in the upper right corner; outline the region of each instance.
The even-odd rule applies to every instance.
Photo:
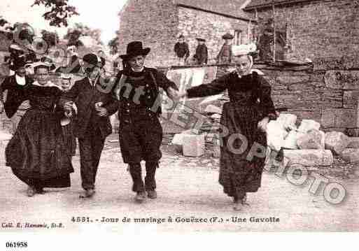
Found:
[[[254,10],[251,10],[254,17]],[[258,17],[272,17],[272,8],[258,9]],[[276,27],[290,24],[289,58],[359,55],[359,3],[352,0],[321,0],[275,8]]]

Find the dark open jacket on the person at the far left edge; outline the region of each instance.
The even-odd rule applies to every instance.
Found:
[[[0,101],[3,101],[3,91],[8,90],[6,102],[3,104],[7,117],[13,117],[21,103],[25,100],[24,90],[33,83],[34,80],[25,76],[25,85],[17,85],[15,74],[8,76],[0,85]]]

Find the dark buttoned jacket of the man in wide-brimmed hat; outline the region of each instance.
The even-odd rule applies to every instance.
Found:
[[[124,76],[126,80],[121,83]],[[120,121],[128,120],[130,115],[136,116],[136,111],[138,112],[141,108],[145,108],[153,115],[160,115],[162,104],[160,88],[167,92],[169,87],[178,89],[174,82],[153,68],[145,67],[141,73],[131,70],[120,71],[114,91],[120,100],[118,112]],[[141,90],[142,95],[136,95],[137,88]]]

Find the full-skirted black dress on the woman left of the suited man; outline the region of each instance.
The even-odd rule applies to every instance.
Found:
[[[57,87],[31,85],[24,99],[31,108],[20,120],[17,130],[6,146],[6,166],[27,185],[69,187],[73,173],[71,157],[62,134],[55,104],[62,94]]]

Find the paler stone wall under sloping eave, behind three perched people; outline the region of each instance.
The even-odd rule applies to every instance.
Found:
[[[241,30],[241,43],[248,43],[248,22],[244,20],[179,7],[178,22],[178,35],[185,36],[190,47],[190,57],[195,55],[197,48],[195,39],[198,37],[206,39],[209,62],[216,59],[224,42],[222,36],[227,32],[234,35],[234,30]],[[251,36],[251,27],[249,33]]]

